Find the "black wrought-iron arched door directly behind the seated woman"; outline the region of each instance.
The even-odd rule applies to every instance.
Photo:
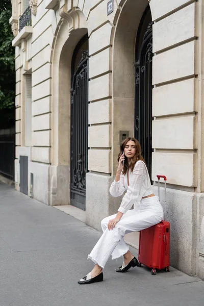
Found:
[[[151,177],[152,19],[149,5],[141,18],[135,46],[135,137]]]

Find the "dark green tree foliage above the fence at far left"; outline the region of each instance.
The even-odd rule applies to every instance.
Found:
[[[15,48],[9,19],[11,1],[0,0],[0,128],[15,118]],[[9,125],[10,125],[9,124]]]

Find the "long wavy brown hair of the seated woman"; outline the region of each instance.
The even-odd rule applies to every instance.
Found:
[[[137,163],[137,161],[143,161],[145,163],[145,161],[144,161],[144,159],[143,159],[143,157],[141,155],[141,145],[140,145],[139,141],[136,138],[133,138],[133,137],[125,138],[123,140],[123,142],[121,143],[121,145],[120,145],[120,152],[118,154],[118,162],[119,162],[120,156],[122,155],[122,151],[124,151],[125,145],[130,140],[135,142],[136,153],[135,153],[134,157],[131,159],[130,164],[127,161],[127,157],[125,156],[124,167],[123,167],[123,170],[122,170],[122,174],[126,174],[127,170],[129,170],[130,168],[131,168],[131,172],[133,172],[133,169],[134,169],[135,164]]]

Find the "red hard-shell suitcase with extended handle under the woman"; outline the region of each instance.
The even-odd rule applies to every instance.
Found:
[[[145,265],[151,268],[151,274],[156,275],[157,269],[169,270],[169,248],[170,248],[170,223],[166,221],[166,176],[157,175],[159,183],[160,198],[160,179],[165,183],[165,221],[146,228],[140,232],[139,240],[139,266]]]

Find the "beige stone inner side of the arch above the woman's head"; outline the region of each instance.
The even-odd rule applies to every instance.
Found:
[[[134,136],[136,37],[148,0],[126,0],[113,34],[113,168],[117,167],[119,131]]]

